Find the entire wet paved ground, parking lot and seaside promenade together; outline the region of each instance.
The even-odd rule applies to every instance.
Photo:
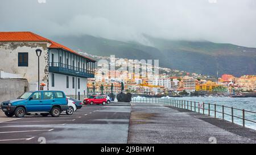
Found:
[[[0,143],[256,143],[253,129],[144,103],[88,105],[59,118],[0,112],[0,120]]]

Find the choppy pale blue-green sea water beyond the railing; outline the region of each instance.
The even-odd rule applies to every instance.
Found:
[[[144,98],[144,97],[135,97],[133,99],[136,99],[138,102],[140,102],[141,99],[142,100],[144,99],[144,102],[146,102],[146,100],[145,100],[146,98]],[[222,105],[228,106],[228,107],[234,107],[234,108],[238,108],[238,109],[244,109],[244,110],[246,110],[245,111],[245,119],[253,120],[254,122],[256,122],[256,113],[253,113],[253,112],[256,112],[256,98],[230,98],[230,97],[172,98],[172,97],[163,97],[162,99],[188,100],[188,101],[192,101],[192,102],[199,102],[200,104],[196,103],[196,107],[198,107],[198,105],[200,105],[201,113],[203,113],[202,105],[204,102],[205,109],[206,109],[205,114],[208,114],[208,104],[206,104],[206,103],[220,105],[220,106],[216,106],[216,111],[219,111],[219,112],[222,112]],[[149,100],[149,98],[147,98],[147,102],[148,102],[148,100]],[[151,103],[155,103],[155,98],[154,99],[151,98]],[[193,105],[194,105],[194,103],[192,104],[192,106]],[[190,102],[189,102],[189,106],[190,106]],[[187,102],[186,102],[186,107],[187,107]],[[224,112],[226,114],[231,115],[232,110],[231,110],[231,108],[228,108],[228,107],[224,107]],[[190,109],[190,107],[189,107],[189,109]],[[214,110],[214,105],[210,105],[210,110]],[[196,111],[198,112],[198,108],[196,108]],[[247,112],[247,111],[253,111],[253,112]],[[217,118],[222,118],[222,114],[219,112],[216,113],[216,116],[217,116]],[[242,111],[234,109],[233,114],[234,114],[234,116],[239,117],[239,118],[234,117],[234,123],[242,125],[243,122],[242,122],[242,119],[240,119],[240,118],[242,118]],[[214,116],[214,111],[210,111],[210,115]],[[229,115],[224,115],[224,119],[231,122],[232,117]],[[245,120],[245,127],[256,129],[256,123]]]

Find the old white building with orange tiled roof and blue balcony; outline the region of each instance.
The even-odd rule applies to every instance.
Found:
[[[41,49],[39,83],[41,90],[61,90],[82,99],[87,78],[94,77],[95,60],[32,32],[0,32],[0,70],[28,80],[28,89],[38,90],[38,56]],[[45,85],[45,86],[44,86]]]

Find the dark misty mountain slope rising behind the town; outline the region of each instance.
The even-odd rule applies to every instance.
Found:
[[[72,49],[98,56],[130,59],[159,59],[159,66],[190,73],[256,74],[256,48],[210,41],[167,40],[145,36],[150,45],[123,42],[89,35],[56,37],[54,40]]]

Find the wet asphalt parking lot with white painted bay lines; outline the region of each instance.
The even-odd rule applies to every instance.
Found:
[[[127,143],[130,111],[130,103],[112,103],[59,118],[25,116],[0,123],[0,143]]]

